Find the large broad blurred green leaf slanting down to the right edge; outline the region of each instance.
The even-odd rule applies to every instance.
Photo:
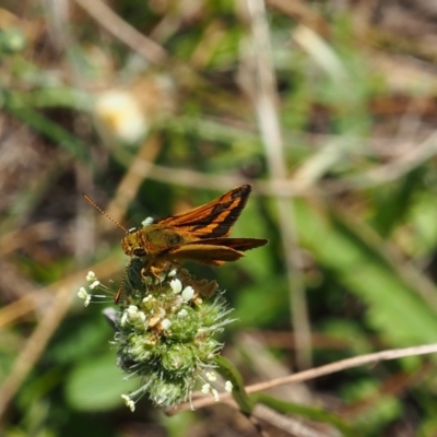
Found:
[[[364,222],[296,201],[302,241],[316,260],[369,306],[367,320],[393,346],[436,341],[435,298],[418,270],[388,253],[385,243]],[[433,300],[430,300],[433,299]],[[395,323],[394,321],[399,321]]]

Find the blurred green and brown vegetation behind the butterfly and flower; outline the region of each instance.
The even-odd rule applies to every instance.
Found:
[[[81,192],[129,228],[253,184],[233,236],[269,246],[188,264],[226,290],[248,385],[436,342],[436,42],[430,0],[3,0],[0,435],[257,435],[223,404],[123,405],[140,381],[115,365],[110,298],[76,298],[88,270],[117,291],[123,234]],[[436,436],[436,370],[272,393],[356,435]]]

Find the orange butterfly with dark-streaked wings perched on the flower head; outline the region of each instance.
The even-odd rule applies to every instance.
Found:
[[[144,260],[144,274],[150,271],[157,275],[168,263],[182,260],[213,265],[236,261],[245,256],[244,251],[268,243],[264,238],[228,238],[251,190],[250,185],[241,185],[204,205],[158,220],[140,229],[127,231],[117,223],[126,232],[121,247],[129,257]],[[105,214],[93,200],[83,196]],[[116,295],[116,303],[120,294],[121,291]]]

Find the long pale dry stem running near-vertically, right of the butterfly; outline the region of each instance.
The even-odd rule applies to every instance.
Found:
[[[264,2],[263,0],[248,0],[247,9],[251,29],[250,43],[253,46],[252,59],[249,61],[248,68],[256,74],[255,81],[251,81],[249,74],[247,74],[248,91],[253,98],[270,175],[275,179],[285,180],[287,168],[276,107],[279,102],[277,86],[271,60],[272,50]],[[276,208],[291,291],[291,314],[297,343],[297,364],[299,368],[306,368],[311,362],[311,335],[304,283],[299,271],[302,262],[294,224],[293,204],[290,200],[276,198]]]

